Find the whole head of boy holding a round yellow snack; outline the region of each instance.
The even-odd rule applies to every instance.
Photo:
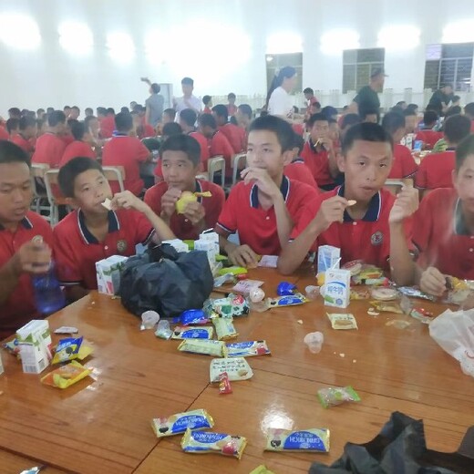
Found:
[[[163,180],[180,191],[194,189],[194,180],[201,162],[201,147],[189,135],[172,135],[160,148]]]

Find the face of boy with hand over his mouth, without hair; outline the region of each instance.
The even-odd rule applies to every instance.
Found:
[[[293,150],[282,152],[276,133],[270,130],[253,130],[249,133],[247,165],[267,170],[271,178],[277,179],[283,166],[291,163]]]

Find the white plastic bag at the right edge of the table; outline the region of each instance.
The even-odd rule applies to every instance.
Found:
[[[439,314],[429,325],[429,335],[460,362],[466,375],[474,376],[474,309]]]

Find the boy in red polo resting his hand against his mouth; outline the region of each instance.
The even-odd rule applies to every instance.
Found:
[[[293,158],[294,131],[283,118],[253,120],[243,181],[229,194],[215,231],[232,263],[255,266],[257,255],[278,255],[300,221],[304,202],[316,196],[311,186],[290,180],[283,167]],[[238,232],[240,244],[227,240]]]

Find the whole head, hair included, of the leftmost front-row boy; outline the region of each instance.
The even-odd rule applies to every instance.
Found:
[[[15,228],[32,197],[28,155],[15,143],[0,140],[0,225]]]

